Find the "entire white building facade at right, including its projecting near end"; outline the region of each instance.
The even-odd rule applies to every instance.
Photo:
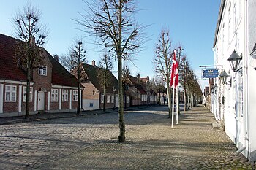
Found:
[[[249,161],[256,161],[256,66],[252,66],[254,60],[256,63],[252,58],[255,9],[255,0],[222,0],[214,39],[214,64],[222,65],[219,73],[225,71],[229,76],[226,83],[217,78],[211,93],[216,120]],[[227,61],[234,50],[242,58],[236,72]]]

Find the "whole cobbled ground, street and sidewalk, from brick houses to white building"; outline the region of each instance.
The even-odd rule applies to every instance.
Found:
[[[252,169],[205,107],[179,115],[170,128],[167,107],[118,115],[84,115],[0,126],[0,169]]]

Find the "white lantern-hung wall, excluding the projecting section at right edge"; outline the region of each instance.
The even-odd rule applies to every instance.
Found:
[[[235,5],[236,4],[236,5]],[[215,114],[224,115],[225,132],[238,148],[246,147],[246,58],[248,58],[246,40],[246,1],[227,0],[225,2],[222,20],[219,24],[217,42],[214,46],[215,65],[222,65],[230,77],[231,85],[222,85],[217,79],[218,97],[225,96],[225,104],[215,105]],[[233,50],[242,54],[243,73],[233,72],[227,58]],[[215,102],[216,103],[216,102]],[[244,155],[246,153],[244,152]]]

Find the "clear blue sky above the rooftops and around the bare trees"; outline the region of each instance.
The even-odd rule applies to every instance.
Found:
[[[87,0],[90,1],[90,0]],[[28,0],[0,0],[0,33],[15,36],[12,16],[23,9]],[[52,55],[64,55],[74,38],[85,36],[72,20],[80,18],[86,4],[82,0],[34,0],[29,1],[42,12],[42,23],[49,30],[45,49]],[[173,45],[181,44],[189,63],[200,76],[200,65],[212,65],[214,53],[212,45],[217,24],[220,0],[137,0],[138,23],[149,25],[145,33],[148,41],[143,51],[135,55],[135,66],[130,64],[133,75],[140,72],[142,77],[154,77],[154,48],[162,28],[170,30]],[[89,63],[99,61],[102,53],[94,44],[94,38],[84,39],[86,57]],[[115,64],[116,65],[116,64]],[[116,67],[117,68],[117,67]],[[207,85],[206,80],[200,80]]]

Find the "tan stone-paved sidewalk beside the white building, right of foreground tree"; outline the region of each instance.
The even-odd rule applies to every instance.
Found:
[[[125,144],[100,141],[35,169],[252,169],[225,132],[213,130],[205,107],[181,112],[179,120],[170,128],[170,119],[156,117],[127,131]]]

